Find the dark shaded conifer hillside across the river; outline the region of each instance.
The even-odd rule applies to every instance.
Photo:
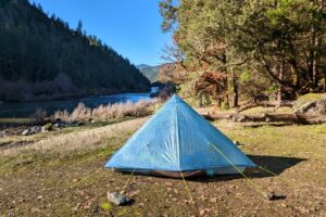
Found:
[[[150,85],[128,60],[88,36],[82,22],[72,29],[27,0],[0,0],[0,101],[146,91]]]

